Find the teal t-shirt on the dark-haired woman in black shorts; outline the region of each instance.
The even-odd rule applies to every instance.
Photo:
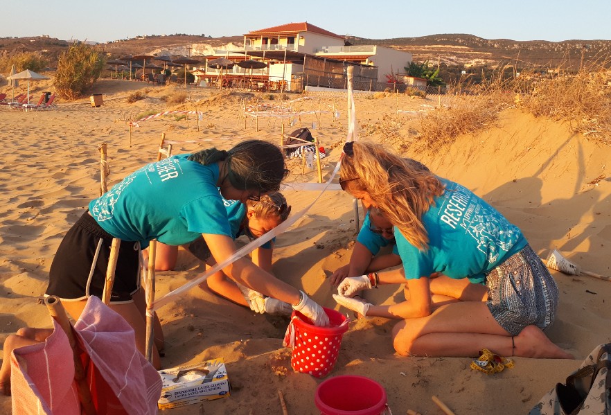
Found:
[[[141,248],[157,239],[182,245],[202,233],[232,237],[216,183],[216,164],[203,166],[178,154],[147,164],[89,203],[100,227],[116,238],[139,241]]]

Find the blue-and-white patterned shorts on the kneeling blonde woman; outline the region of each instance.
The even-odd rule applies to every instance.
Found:
[[[511,335],[534,324],[548,328],[556,317],[558,287],[530,245],[486,275],[488,310]]]

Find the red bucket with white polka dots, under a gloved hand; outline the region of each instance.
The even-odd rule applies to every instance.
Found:
[[[284,345],[293,348],[291,366],[294,371],[324,378],[335,366],[342,337],[350,319],[340,312],[324,308],[329,326],[317,327],[299,311],[293,311]]]

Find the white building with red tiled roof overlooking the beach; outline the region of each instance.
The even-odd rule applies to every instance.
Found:
[[[255,73],[262,77],[265,73],[270,83],[284,83],[291,91],[302,91],[306,85],[346,88],[348,66],[354,67],[355,89],[377,90],[376,84],[385,83],[387,74],[403,71],[411,62],[411,53],[375,45],[346,45],[343,36],[308,22],[253,30],[244,35],[241,49],[215,50],[207,60],[220,57],[235,62],[261,60],[267,68]],[[245,73],[238,65],[228,72],[229,76]]]

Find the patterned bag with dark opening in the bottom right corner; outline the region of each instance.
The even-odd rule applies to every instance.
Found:
[[[543,396],[529,415],[611,414],[611,343],[601,344],[572,373]]]

